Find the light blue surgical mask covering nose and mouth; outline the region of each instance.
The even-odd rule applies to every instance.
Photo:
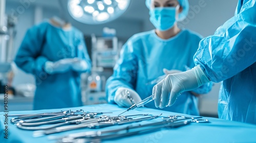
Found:
[[[166,31],[174,27],[176,22],[176,10],[180,6],[172,8],[154,8],[150,10],[150,21],[156,29]]]

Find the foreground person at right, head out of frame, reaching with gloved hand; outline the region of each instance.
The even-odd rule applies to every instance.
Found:
[[[219,118],[256,124],[255,2],[240,0],[235,15],[200,41],[193,69],[168,75],[154,87],[156,107],[175,105],[181,92],[222,81]]]

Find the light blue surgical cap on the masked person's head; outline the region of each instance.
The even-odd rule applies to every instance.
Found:
[[[180,6],[183,8],[182,12],[179,14],[179,21],[182,21],[186,18],[189,10],[189,4],[187,0],[177,0],[180,3]],[[152,0],[146,0],[146,7],[151,9]]]

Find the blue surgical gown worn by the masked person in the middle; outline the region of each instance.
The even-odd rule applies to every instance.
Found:
[[[181,30],[169,39],[159,38],[155,30],[135,34],[122,47],[120,58],[114,67],[114,74],[106,82],[106,96],[114,104],[115,92],[119,87],[134,89],[145,99],[151,96],[155,84],[148,84],[164,75],[163,68],[184,71],[194,67],[193,56],[198,49],[201,37],[189,30]],[[207,84],[195,90],[206,93],[211,89]],[[190,92],[184,92],[176,103],[163,110],[199,115],[197,98]],[[151,102],[146,107],[156,108]]]

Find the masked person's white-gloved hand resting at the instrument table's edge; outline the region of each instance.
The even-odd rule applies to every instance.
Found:
[[[114,97],[114,101],[118,106],[130,107],[133,105],[131,100],[127,97],[128,94],[126,93],[126,90],[129,91],[130,97],[134,100],[135,104],[141,102],[141,98],[136,91],[134,91],[130,88],[120,87],[116,90],[116,94]]]

